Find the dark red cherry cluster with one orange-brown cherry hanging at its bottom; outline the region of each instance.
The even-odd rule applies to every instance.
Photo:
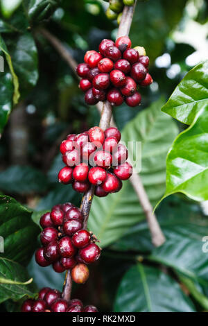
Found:
[[[57,273],[71,270],[71,278],[83,284],[89,277],[87,264],[101,255],[92,232],[83,228],[83,214],[71,203],[55,205],[40,218],[42,248],[35,252],[35,260],[42,267],[53,265]]]

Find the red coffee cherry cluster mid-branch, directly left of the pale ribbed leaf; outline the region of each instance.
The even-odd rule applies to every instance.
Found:
[[[126,162],[128,150],[119,144],[120,139],[121,133],[114,127],[105,132],[93,127],[79,135],[68,135],[60,145],[66,166],[58,173],[59,182],[72,183],[78,192],[87,191],[92,184],[99,197],[119,191],[121,180],[132,175],[132,166]]]

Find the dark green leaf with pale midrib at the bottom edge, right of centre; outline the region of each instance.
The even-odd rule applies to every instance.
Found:
[[[154,267],[137,264],[125,273],[114,302],[121,312],[193,312],[179,284]]]

